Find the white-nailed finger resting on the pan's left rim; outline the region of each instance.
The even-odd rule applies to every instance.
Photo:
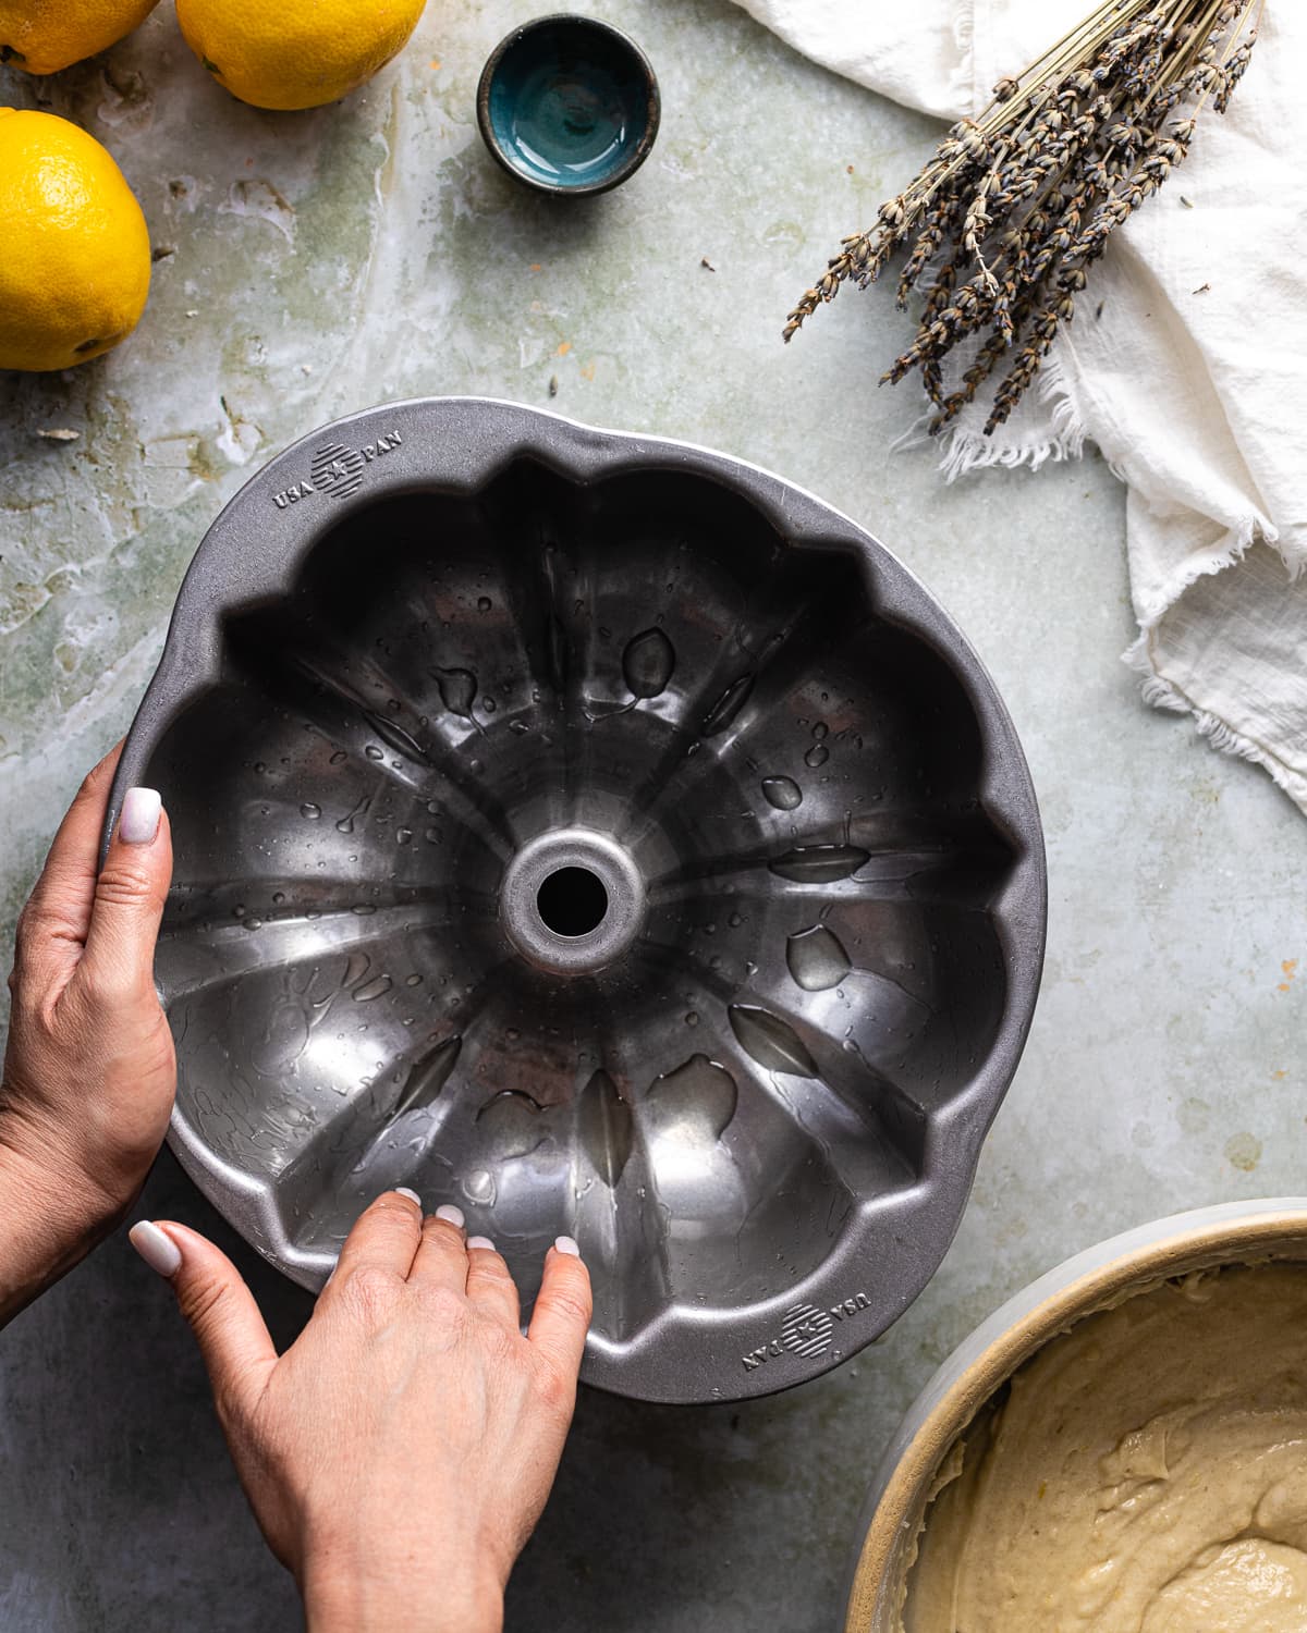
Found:
[[[173,872],[163,802],[154,789],[127,789],[109,854],[95,882],[83,957],[106,991],[154,988],[154,946]]]

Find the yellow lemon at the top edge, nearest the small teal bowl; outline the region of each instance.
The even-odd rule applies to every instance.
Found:
[[[426,0],[176,0],[186,44],[255,108],[320,108],[407,42]]]

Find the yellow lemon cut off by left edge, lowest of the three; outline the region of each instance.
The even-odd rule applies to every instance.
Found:
[[[69,369],[136,328],[150,234],[93,136],[0,108],[0,369]]]

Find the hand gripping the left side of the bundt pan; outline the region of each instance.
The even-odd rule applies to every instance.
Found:
[[[154,947],[172,877],[160,799],[131,789],[100,864],[118,766],[82,784],[18,921],[0,1081],[0,1324],[118,1223],[176,1088]]]

